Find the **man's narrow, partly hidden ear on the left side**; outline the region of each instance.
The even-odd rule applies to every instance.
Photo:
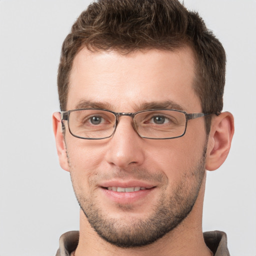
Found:
[[[53,132],[55,136],[59,164],[62,169],[69,171],[65,140],[62,133],[62,124],[61,124],[59,112],[54,112],[52,114],[52,125],[53,125]]]

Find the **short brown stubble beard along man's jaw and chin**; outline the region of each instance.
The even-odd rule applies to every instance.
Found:
[[[105,241],[119,247],[140,247],[151,244],[170,232],[190,213],[205,175],[205,155],[206,146],[195,167],[184,172],[182,182],[173,188],[171,194],[166,196],[162,193],[155,205],[151,207],[153,210],[147,218],[132,221],[108,217],[99,207],[100,205],[96,205],[96,198],[76,193],[72,172],[70,175],[80,208],[96,233]],[[71,166],[69,167],[71,169]],[[133,172],[143,173],[143,170],[134,169]],[[129,205],[117,206],[120,211],[123,211],[124,217],[125,214],[129,214],[129,210],[132,210],[132,206]]]

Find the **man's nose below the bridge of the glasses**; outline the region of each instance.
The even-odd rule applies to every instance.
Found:
[[[144,139],[132,126],[130,116],[122,116],[111,138],[105,155],[109,164],[119,168],[141,165],[144,161]]]

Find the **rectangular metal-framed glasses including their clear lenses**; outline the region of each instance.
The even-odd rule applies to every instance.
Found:
[[[63,120],[67,120],[69,132],[77,138],[103,139],[111,137],[120,116],[126,115],[132,118],[132,126],[140,137],[169,139],[185,134],[187,120],[212,113],[186,113],[176,109],[150,109],[126,113],[101,108],[83,108],[62,111],[60,114],[62,124]]]

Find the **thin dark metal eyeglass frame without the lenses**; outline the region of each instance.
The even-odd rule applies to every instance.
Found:
[[[79,111],[79,110],[92,110],[92,109],[95,109],[95,110],[103,110],[103,111],[107,111],[107,112],[110,112],[110,113],[113,113],[115,115],[115,125],[114,125],[114,129],[113,129],[113,132],[107,136],[107,137],[102,137],[102,138],[85,138],[85,137],[80,137],[80,136],[77,136],[75,134],[73,134],[70,130],[70,127],[69,127],[69,114],[70,112],[73,112],[73,111]],[[111,110],[108,110],[108,109],[103,109],[103,108],[78,108],[78,109],[71,109],[71,110],[68,110],[68,111],[60,111],[60,120],[61,120],[61,123],[62,123],[62,126],[64,126],[63,124],[63,120],[66,120],[67,121],[67,126],[68,126],[68,130],[70,132],[70,134],[74,137],[77,137],[77,138],[82,138],[82,139],[104,139],[104,138],[109,138],[111,137],[115,130],[116,130],[116,127],[117,127],[117,124],[119,122],[119,118],[120,116],[122,115],[126,115],[126,116],[130,116],[133,120],[133,124],[134,124],[134,117],[136,114],[138,113],[142,113],[142,112],[148,112],[148,111],[159,111],[159,110],[172,110],[172,111],[177,111],[177,112],[180,112],[180,113],[183,113],[185,115],[185,118],[186,118],[186,121],[185,121],[185,129],[184,129],[184,132],[179,135],[179,136],[175,136],[175,137],[166,137],[166,138],[151,138],[151,137],[145,137],[145,136],[141,136],[137,129],[136,129],[136,126],[133,125],[135,131],[137,132],[137,134],[142,137],[142,138],[148,138],[148,139],[171,139],[171,138],[178,138],[178,137],[182,137],[185,132],[186,132],[186,126],[187,126],[187,120],[191,120],[191,119],[195,119],[195,118],[198,118],[198,117],[202,117],[202,116],[205,116],[205,115],[209,115],[209,114],[216,114],[216,115],[219,115],[220,112],[212,112],[212,113],[187,113],[185,111],[182,111],[182,110],[177,110],[177,109],[147,109],[147,110],[141,110],[141,111],[137,111],[137,112],[114,112],[114,111],[111,111]]]

